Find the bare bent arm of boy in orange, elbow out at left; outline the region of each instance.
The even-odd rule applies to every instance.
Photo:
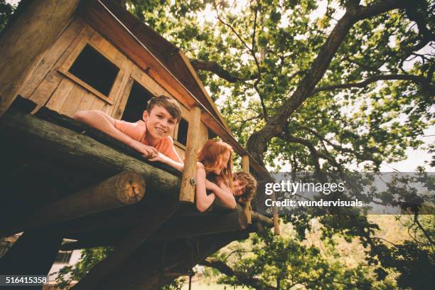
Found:
[[[73,119],[88,124],[90,127],[99,129],[107,135],[112,136],[114,139],[122,141],[122,143],[127,144],[136,151],[139,151],[139,153],[146,158],[152,158],[159,154],[154,147],[141,144],[141,142],[134,140],[127,134],[119,131],[114,125],[115,120],[104,112],[97,110],[79,111],[73,114]]]

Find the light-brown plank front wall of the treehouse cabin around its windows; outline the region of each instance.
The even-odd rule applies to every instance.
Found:
[[[87,44],[119,68],[112,90],[107,96],[68,72]],[[100,33],[76,16],[45,52],[20,95],[38,104],[35,112],[45,106],[71,117],[80,110],[99,109],[115,119],[120,119],[134,80],[149,90],[152,95],[171,96],[144,70],[141,70],[114,45],[106,41]],[[183,118],[189,120],[188,108],[183,104],[180,107]],[[173,139],[176,139],[177,130],[178,125],[172,134]],[[200,131],[200,144],[202,145],[208,139],[207,127],[202,122]],[[177,141],[174,143],[178,154],[184,158],[185,147]]]

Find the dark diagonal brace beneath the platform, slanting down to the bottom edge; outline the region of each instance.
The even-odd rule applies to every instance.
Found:
[[[138,220],[139,226],[116,245],[109,256],[93,267],[90,272],[76,284],[73,289],[97,289],[110,273],[121,266],[130,255],[176,212],[178,200],[162,200],[161,203],[149,204],[148,210]]]

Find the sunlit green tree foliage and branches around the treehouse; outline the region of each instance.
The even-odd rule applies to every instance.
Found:
[[[434,6],[429,0],[127,1],[186,52],[240,143],[271,168],[287,164],[294,172],[379,171],[382,163],[405,159],[407,148],[434,152],[421,141],[434,125]],[[13,8],[4,0],[0,7],[1,30]],[[375,239],[377,225],[364,215],[319,221],[325,240],[360,240],[377,280],[394,269],[397,286],[426,289],[434,284],[432,217],[415,212],[408,225],[415,234],[400,245]],[[347,269],[302,243],[312,218],[284,217],[294,239],[254,237],[254,256],[232,267],[219,256],[205,264],[226,271],[226,283],[256,289],[372,287],[367,267]],[[61,270],[60,281],[67,273],[80,279],[108,250],[85,250],[77,266]]]

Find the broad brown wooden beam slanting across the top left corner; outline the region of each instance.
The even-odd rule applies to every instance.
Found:
[[[80,0],[28,2],[18,19],[0,35],[0,117],[70,21]]]

